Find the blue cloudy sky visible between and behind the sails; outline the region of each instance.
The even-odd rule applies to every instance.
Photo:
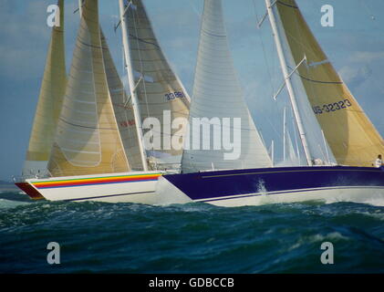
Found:
[[[78,0],[66,1],[67,69],[70,66]],[[264,0],[223,0],[234,65],[245,99],[265,143],[282,141],[286,94],[273,101],[282,82]],[[384,134],[384,1],[296,0],[320,45],[348,84],[368,117]],[[50,28],[47,6],[56,0],[0,0],[0,180],[19,175],[26,155],[43,76]],[[101,26],[123,75],[120,32],[114,33],[118,1],[99,0]],[[144,0],[152,25],[172,68],[192,95],[202,0]],[[322,5],[333,5],[335,26],[320,24]],[[277,146],[278,148],[279,146]],[[276,155],[281,155],[277,149]]]

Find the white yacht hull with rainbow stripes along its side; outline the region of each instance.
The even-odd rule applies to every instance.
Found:
[[[16,185],[32,199],[156,203],[156,183],[162,172],[128,172],[27,179]]]

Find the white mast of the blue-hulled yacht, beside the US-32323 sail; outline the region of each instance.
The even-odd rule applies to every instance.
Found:
[[[274,2],[274,5],[275,4],[276,4],[276,1]],[[312,166],[313,165],[312,156],[311,156],[311,153],[309,151],[308,143],[306,141],[306,132],[305,132],[304,127],[303,127],[303,122],[302,122],[302,119],[300,117],[300,114],[299,114],[299,111],[297,108],[296,95],[295,95],[295,91],[294,91],[292,83],[291,83],[290,74],[288,73],[288,68],[286,65],[286,60],[285,60],[285,56],[284,56],[284,52],[283,52],[283,46],[282,46],[282,43],[280,40],[280,35],[279,35],[278,29],[276,26],[276,20],[275,20],[275,15],[274,15],[274,11],[273,11],[273,5],[271,5],[271,0],[265,0],[265,5],[266,5],[268,16],[269,16],[269,22],[271,24],[272,31],[274,34],[275,45],[276,45],[276,49],[277,49],[277,55],[279,57],[280,66],[281,66],[281,69],[283,71],[283,75],[285,78],[286,89],[288,90],[289,99],[291,100],[292,109],[294,110],[297,129],[298,129],[299,135],[300,135],[300,140],[303,144],[304,152],[306,153],[306,162],[308,163],[309,166]]]

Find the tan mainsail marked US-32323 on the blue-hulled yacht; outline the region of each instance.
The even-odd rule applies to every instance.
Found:
[[[371,166],[378,154],[384,153],[378,130],[329,62],[295,0],[277,1],[275,11],[295,63],[306,56],[306,65],[300,66],[296,74],[337,162]]]

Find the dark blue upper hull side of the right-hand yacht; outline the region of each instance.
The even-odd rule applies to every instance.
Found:
[[[331,188],[384,188],[384,168],[318,166],[192,172],[163,175],[194,201],[257,193]]]

